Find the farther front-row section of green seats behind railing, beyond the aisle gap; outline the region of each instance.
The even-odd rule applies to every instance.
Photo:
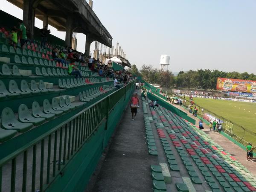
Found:
[[[79,99],[81,102],[90,102],[96,97],[102,95],[103,93],[107,93],[108,91],[113,90],[111,86],[102,86],[102,87],[93,87],[89,90],[83,91],[79,93]]]

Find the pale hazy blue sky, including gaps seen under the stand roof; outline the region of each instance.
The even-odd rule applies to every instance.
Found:
[[[0,9],[22,18],[1,0]],[[169,70],[218,69],[256,73],[256,0],[93,0],[93,10],[131,64]],[[42,27],[40,20],[35,25]],[[53,35],[65,38],[64,32]],[[84,52],[85,35],[78,34]],[[92,46],[93,48],[93,46]],[[108,50],[107,50],[108,52]]]

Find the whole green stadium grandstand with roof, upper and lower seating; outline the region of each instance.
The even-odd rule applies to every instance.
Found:
[[[0,192],[256,191],[242,149],[231,154],[118,64],[118,73],[90,66],[90,44],[111,47],[112,37],[85,0],[9,2],[23,9],[23,21],[0,11]],[[35,16],[66,31],[66,40],[49,35],[42,46]],[[12,44],[18,23],[28,39],[21,33]],[[73,32],[87,35],[86,59],[57,60],[54,50],[69,48]],[[151,90],[146,99],[143,90]],[[140,108],[132,121],[134,93]]]

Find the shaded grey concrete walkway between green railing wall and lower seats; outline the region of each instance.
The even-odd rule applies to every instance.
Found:
[[[150,165],[158,162],[157,156],[148,154],[145,142],[143,110],[138,109],[136,119],[131,121],[131,109],[128,107],[113,137],[96,183],[87,192],[153,191]]]

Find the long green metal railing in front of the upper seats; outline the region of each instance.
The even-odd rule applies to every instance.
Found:
[[[99,125],[108,129],[108,115],[131,95],[135,81],[111,93],[38,137],[26,148],[0,159],[0,192],[43,192],[94,134]],[[26,133],[25,133],[26,134]]]

